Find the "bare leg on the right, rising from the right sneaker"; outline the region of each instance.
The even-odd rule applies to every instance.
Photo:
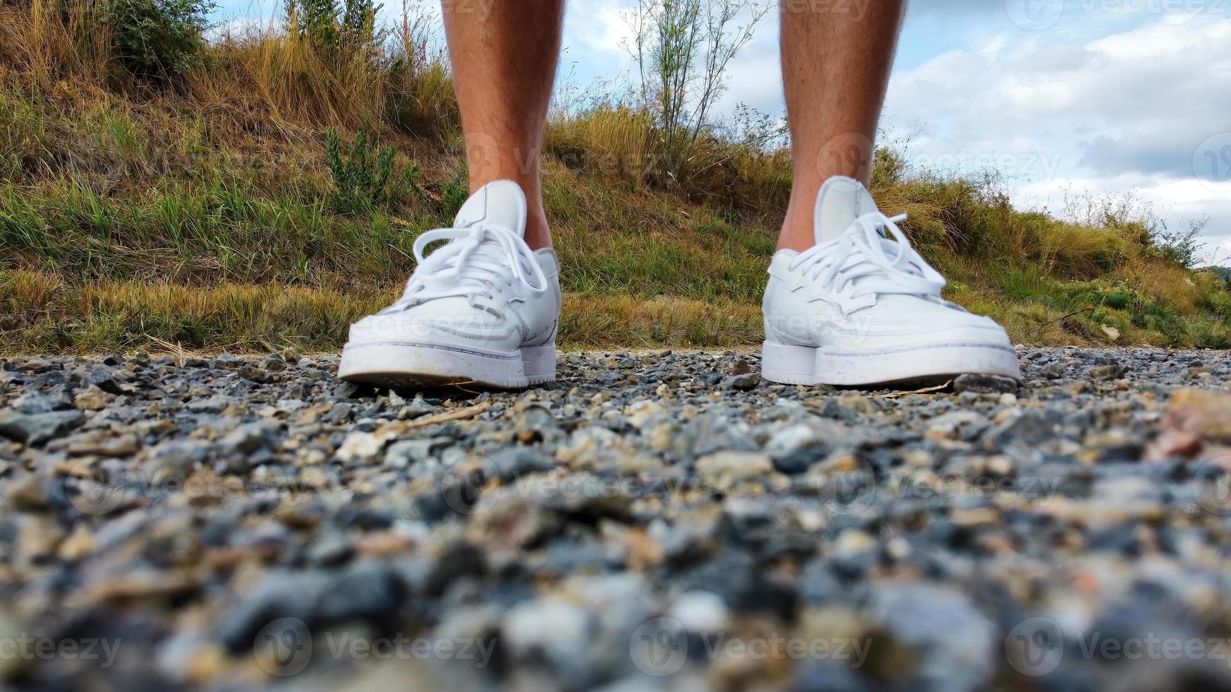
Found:
[[[831,176],[868,184],[906,2],[852,2],[849,11],[809,0],[780,5],[794,183],[778,247],[803,251],[816,243],[812,211],[821,184]]]

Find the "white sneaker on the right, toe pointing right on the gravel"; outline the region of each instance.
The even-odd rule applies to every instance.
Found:
[[[1020,379],[1004,329],[940,297],[944,277],[902,235],[897,224],[905,219],[881,214],[858,181],[825,182],[816,198],[817,245],[780,250],[769,265],[766,380],[873,385],[964,372]]]

